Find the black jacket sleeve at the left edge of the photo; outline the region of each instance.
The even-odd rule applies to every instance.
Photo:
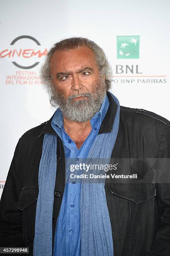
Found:
[[[18,141],[19,144],[19,141]],[[0,200],[0,246],[24,246],[22,212],[15,207],[21,186],[18,177],[18,144]]]

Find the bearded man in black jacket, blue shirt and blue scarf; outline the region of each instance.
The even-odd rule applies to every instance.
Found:
[[[88,159],[168,159],[170,122],[120,107],[104,51],[86,38],[55,44],[42,77],[59,108],[18,141],[0,201],[0,246],[28,246],[35,256],[170,255],[168,182],[79,181],[69,169]]]

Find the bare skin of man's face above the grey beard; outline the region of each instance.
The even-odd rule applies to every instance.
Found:
[[[51,74],[53,84],[63,91],[66,98],[93,92],[91,84],[100,79],[94,54],[88,47],[56,51],[51,57]]]

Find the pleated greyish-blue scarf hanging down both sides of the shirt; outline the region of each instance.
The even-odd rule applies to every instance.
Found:
[[[112,94],[111,94],[112,95]],[[112,131],[96,136],[86,164],[109,164],[119,128],[118,105]],[[45,134],[39,166],[34,256],[52,256],[52,215],[57,167],[57,136]],[[99,170],[91,170],[99,174]],[[107,208],[104,179],[83,179],[81,184],[81,256],[113,256],[112,228]]]

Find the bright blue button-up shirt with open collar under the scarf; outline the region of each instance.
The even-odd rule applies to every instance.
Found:
[[[90,120],[91,132],[81,148],[77,148],[76,143],[65,132],[63,127],[63,115],[59,108],[56,110],[57,113],[51,125],[63,141],[66,158],[66,180],[70,180],[70,159],[75,159],[76,163],[79,164],[80,159],[87,158],[108,107],[109,100],[106,95],[99,112]],[[71,182],[66,183],[56,224],[53,256],[81,255],[80,194],[80,181],[77,182],[76,179],[72,179]]]

